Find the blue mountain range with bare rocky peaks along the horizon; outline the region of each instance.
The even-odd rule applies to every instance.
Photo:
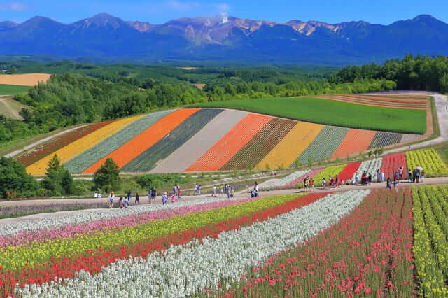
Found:
[[[72,24],[47,17],[21,24],[0,22],[0,43],[0,55],[346,64],[381,62],[405,54],[448,55],[448,24],[430,15],[389,25],[279,23],[219,15],[156,25],[100,13]]]

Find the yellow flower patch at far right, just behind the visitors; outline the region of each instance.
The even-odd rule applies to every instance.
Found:
[[[448,176],[448,167],[434,149],[406,152],[407,169],[423,167],[426,177]]]

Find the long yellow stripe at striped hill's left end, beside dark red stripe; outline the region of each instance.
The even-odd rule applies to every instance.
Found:
[[[130,125],[130,123],[134,122],[135,120],[138,120],[141,117],[143,117],[143,115],[111,122],[109,125],[97,129],[91,134],[87,134],[87,136],[83,136],[83,138],[78,139],[72,143],[69,143],[69,145],[65,146],[64,148],[61,148],[56,152],[54,152],[54,154],[57,154],[57,156],[61,161],[61,164],[64,164],[69,159],[75,157],[76,155],[79,155],[80,153],[84,152],[90,147],[97,145],[97,143],[103,141],[106,138],[109,138],[109,136],[112,136],[116,132],[119,132],[120,129],[123,129],[123,127]],[[31,166],[27,167],[27,172],[30,173],[31,175],[45,174],[48,162],[50,161],[52,156],[53,155],[47,155],[38,162],[31,164]]]

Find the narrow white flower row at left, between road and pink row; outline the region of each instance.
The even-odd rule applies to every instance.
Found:
[[[227,198],[204,198],[195,199],[194,201],[176,201],[174,204],[143,204],[139,206],[132,206],[121,210],[120,208],[112,209],[97,209],[90,211],[81,211],[73,213],[61,213],[60,216],[53,214],[51,218],[40,218],[24,220],[19,222],[8,223],[1,226],[0,235],[10,235],[18,232],[33,232],[41,229],[50,229],[52,227],[61,227],[64,225],[75,225],[83,222],[90,222],[94,220],[107,220],[110,218],[120,218],[127,215],[137,215],[152,211],[160,211],[172,208],[181,208],[183,206],[193,206],[198,204],[212,203],[216,201],[228,201]],[[104,203],[106,204],[106,203]]]

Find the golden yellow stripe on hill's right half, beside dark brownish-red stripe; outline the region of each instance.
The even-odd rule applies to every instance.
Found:
[[[308,122],[297,122],[283,140],[269,152],[258,164],[258,168],[284,168],[293,164],[295,159],[309,146],[321,132],[323,125]]]

